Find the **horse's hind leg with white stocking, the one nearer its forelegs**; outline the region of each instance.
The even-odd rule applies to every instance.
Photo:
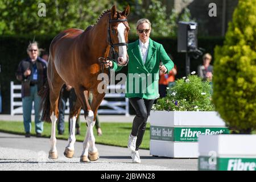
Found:
[[[70,131],[69,131],[69,138],[68,138],[68,145],[65,148],[64,155],[67,158],[73,158],[74,151],[75,151],[75,142],[76,142],[76,135],[75,135],[75,127],[76,127],[76,119],[79,117],[81,104],[78,100],[76,100],[75,106],[73,108],[69,108],[69,118],[70,118]]]

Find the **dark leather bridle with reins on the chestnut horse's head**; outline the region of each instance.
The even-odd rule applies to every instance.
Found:
[[[98,61],[101,64],[101,70],[102,70],[102,81],[104,81],[104,77],[103,77],[103,73],[104,73],[104,64],[107,64],[108,62],[106,62],[106,60],[111,60],[111,61],[115,61],[117,62],[118,59],[118,52],[115,51],[114,47],[119,47],[119,46],[126,46],[126,48],[128,49],[128,44],[126,42],[122,42],[122,43],[117,43],[117,44],[113,44],[112,42],[112,38],[111,38],[111,32],[110,32],[110,24],[111,23],[116,23],[116,22],[127,22],[127,19],[110,19],[110,15],[109,15],[109,23],[108,23],[108,47],[109,48],[109,54],[110,57],[99,57]],[[113,30],[112,33],[114,34]],[[107,47],[107,49],[108,49]],[[107,52],[107,50],[106,50]],[[108,68],[108,77],[109,77],[109,83],[110,83],[110,68]]]

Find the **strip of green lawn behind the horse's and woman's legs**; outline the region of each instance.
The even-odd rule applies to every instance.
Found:
[[[35,122],[32,122],[31,135],[35,135]],[[131,133],[132,123],[101,123],[102,136],[97,135],[95,127],[93,127],[93,133],[96,138],[96,143],[106,144],[111,146],[127,147],[127,141],[129,134]],[[56,126],[57,127],[57,126]],[[86,134],[86,124],[81,122],[81,135],[76,135],[76,141],[84,141]],[[0,131],[13,133],[13,134],[25,134],[23,122],[8,122],[0,121]],[[51,137],[51,123],[44,123],[44,131],[42,137]],[[58,135],[56,131],[57,139],[67,140],[68,135],[68,123],[65,122],[64,135]],[[143,142],[140,148],[149,150],[150,144],[150,125],[147,124],[146,132],[143,137]]]

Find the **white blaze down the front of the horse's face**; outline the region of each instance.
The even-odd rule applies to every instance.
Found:
[[[125,43],[125,24],[119,23],[117,26],[117,31],[118,31],[118,40],[119,43]],[[119,57],[122,57],[123,60],[126,61],[127,57],[127,49],[126,46],[119,46]]]

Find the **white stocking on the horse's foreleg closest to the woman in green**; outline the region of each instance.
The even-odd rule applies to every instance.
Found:
[[[95,146],[95,137],[93,135],[93,126],[95,125],[95,121],[93,121],[94,114],[92,110],[89,110],[88,117],[86,117],[87,125],[88,125],[88,142],[89,142],[89,152],[97,152],[97,148]]]

